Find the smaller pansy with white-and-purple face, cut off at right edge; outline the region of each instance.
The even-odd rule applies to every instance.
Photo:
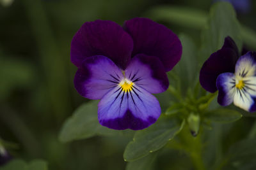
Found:
[[[239,57],[236,43],[225,38],[220,50],[207,59],[200,70],[200,84],[209,92],[218,90],[218,103],[234,103],[246,111],[256,111],[256,53]]]

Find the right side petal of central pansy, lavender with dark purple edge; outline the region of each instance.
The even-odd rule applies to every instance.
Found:
[[[125,76],[153,94],[164,92],[169,87],[163,64],[157,57],[136,55],[125,69]]]

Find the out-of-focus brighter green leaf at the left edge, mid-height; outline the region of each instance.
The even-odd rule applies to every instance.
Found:
[[[35,76],[33,67],[24,60],[0,56],[0,100],[17,87],[28,87]]]

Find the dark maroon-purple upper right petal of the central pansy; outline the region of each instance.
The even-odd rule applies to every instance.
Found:
[[[144,53],[158,57],[165,71],[170,71],[179,62],[182,45],[179,38],[167,27],[148,18],[133,18],[124,23],[134,42],[132,56]]]

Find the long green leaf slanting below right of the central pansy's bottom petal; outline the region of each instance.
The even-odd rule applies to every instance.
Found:
[[[180,132],[183,125],[178,118],[160,117],[156,124],[135,133],[133,141],[125,148],[124,160],[134,161],[159,150]]]

